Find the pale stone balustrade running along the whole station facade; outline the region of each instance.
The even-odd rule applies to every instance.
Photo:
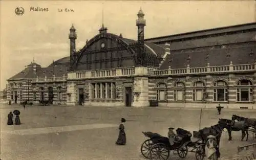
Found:
[[[175,75],[194,75],[194,74],[218,74],[218,73],[235,73],[235,72],[253,72],[255,64],[241,64],[222,66],[205,66],[205,67],[189,67],[168,70],[157,70],[157,68],[146,68],[146,70],[137,70],[136,67],[111,68],[108,70],[96,71],[78,71],[68,73],[68,79],[88,79],[88,78],[108,78],[108,77],[127,77],[135,75],[150,75],[150,76],[175,76]],[[32,82],[55,82],[66,81],[67,77],[45,77],[36,78]]]

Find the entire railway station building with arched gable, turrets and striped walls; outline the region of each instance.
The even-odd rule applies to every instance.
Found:
[[[35,62],[8,79],[12,103],[147,107],[256,108],[256,23],[144,39],[140,9],[137,40],[108,32],[48,67]]]

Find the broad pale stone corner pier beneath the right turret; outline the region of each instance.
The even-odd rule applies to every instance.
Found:
[[[150,103],[148,102],[148,77],[147,77],[147,67],[135,67],[134,78],[134,101],[132,103],[133,107],[148,107]]]

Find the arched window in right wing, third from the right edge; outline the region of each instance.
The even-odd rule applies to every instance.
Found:
[[[197,81],[193,84],[193,101],[204,101],[205,84]]]

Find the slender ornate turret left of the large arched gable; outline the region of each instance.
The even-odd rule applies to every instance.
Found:
[[[70,28],[70,71],[74,71],[74,66],[76,62],[76,29],[72,24]]]

